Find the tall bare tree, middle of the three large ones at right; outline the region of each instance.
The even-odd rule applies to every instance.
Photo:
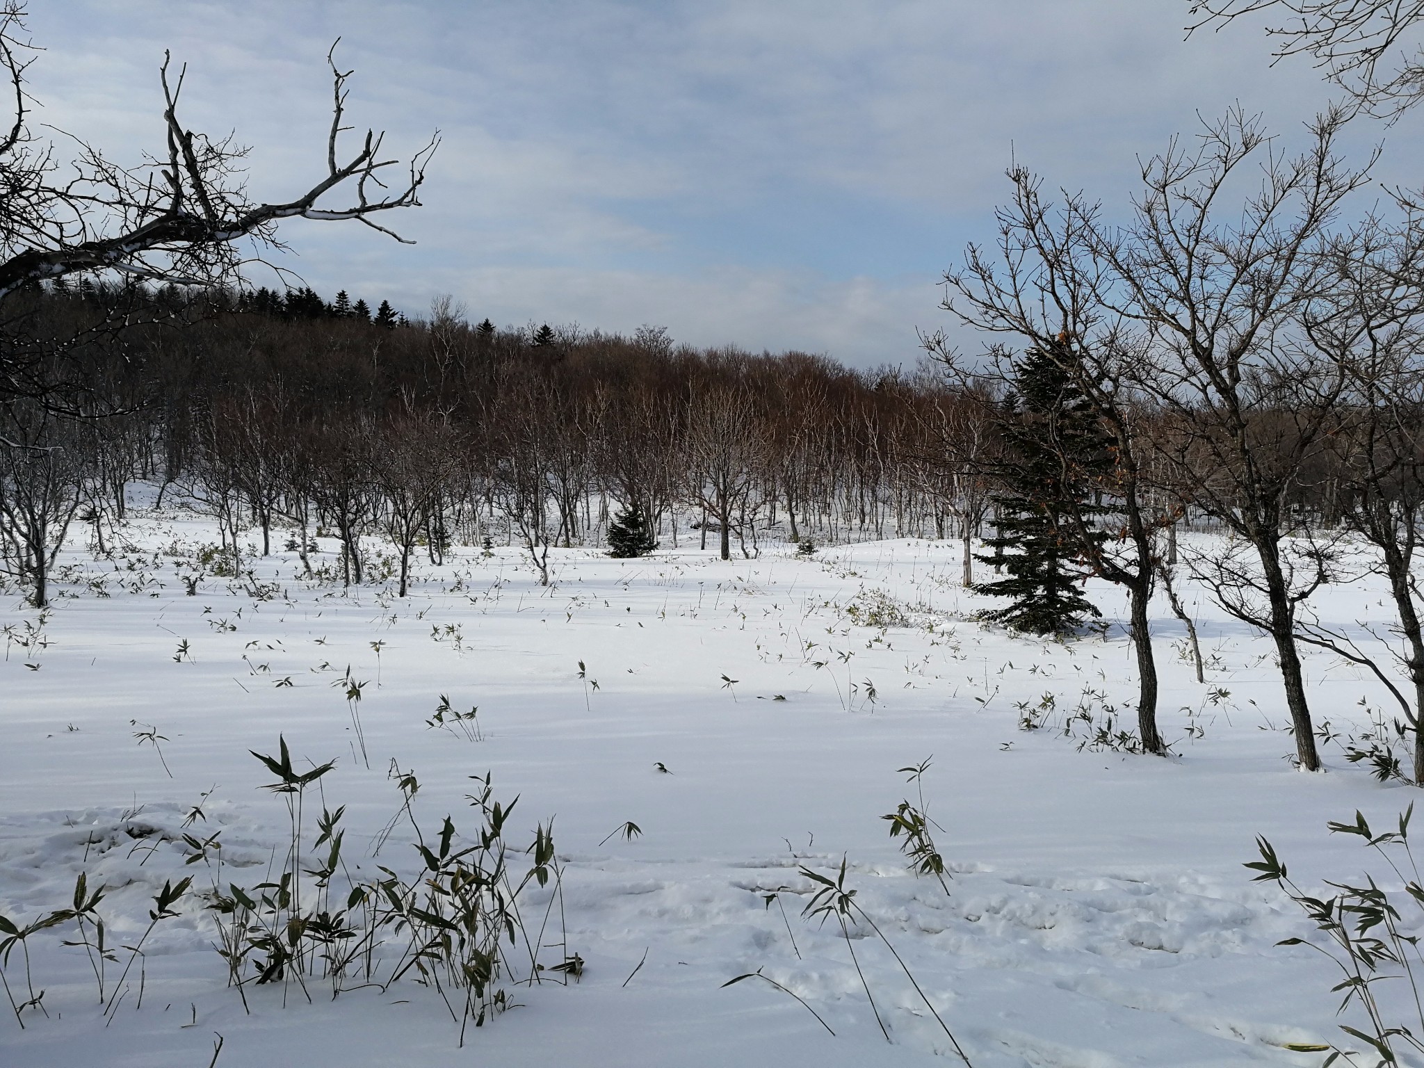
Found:
[[[1309,531],[1290,504],[1347,382],[1337,356],[1302,339],[1302,323],[1329,299],[1331,225],[1366,181],[1367,168],[1347,168],[1336,152],[1346,120],[1340,110],[1320,117],[1310,148],[1284,158],[1259,124],[1232,112],[1196,150],[1173,144],[1143,165],[1125,229],[1084,219],[1112,271],[1114,285],[1099,288],[1106,306],[1146,330],[1134,386],[1159,409],[1159,470],[1183,506],[1208,511],[1255,555],[1247,565],[1229,548],[1200,562],[1215,572],[1219,604],[1272,635],[1307,770],[1320,759],[1296,614],[1327,570],[1314,545],[1292,541]],[[1222,221],[1227,185],[1257,161],[1257,191]]]

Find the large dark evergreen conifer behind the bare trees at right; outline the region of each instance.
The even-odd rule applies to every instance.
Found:
[[[1091,480],[1109,466],[1109,457],[1105,436],[1064,370],[1069,359],[1068,346],[1052,353],[1030,349],[1015,366],[1015,394],[1005,402],[1000,423],[1015,456],[1004,463],[1005,488],[993,498],[997,537],[985,540],[993,554],[977,557],[1007,574],[974,591],[1012,598],[983,618],[1027,634],[1071,634],[1087,617],[1101,615],[1082,595],[1085,574],[1075,567],[1082,553],[1067,517],[1106,511],[1091,503]]]

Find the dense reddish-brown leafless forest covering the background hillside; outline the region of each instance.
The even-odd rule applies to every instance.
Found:
[[[451,538],[501,534],[543,561],[548,545],[601,543],[621,507],[655,537],[712,537],[723,560],[755,554],[768,531],[967,538],[984,514],[984,477],[944,457],[985,429],[930,369],[699,350],[656,328],[496,329],[449,300],[382,322],[333,313],[340,300],[293,315],[214,290],[28,299],[34,332],[75,336],[118,306],[128,326],[67,346],[44,397],[10,400],[4,436],[21,447],[7,486],[66,481],[58,497],[101,524],[122,515],[127,481],[148,478],[202,500],[232,545],[251,523],[263,553],[273,524],[333,530],[349,582],[376,533],[402,550],[404,594],[417,543],[437,560]],[[46,538],[31,525],[19,557],[37,585],[63,515]]]

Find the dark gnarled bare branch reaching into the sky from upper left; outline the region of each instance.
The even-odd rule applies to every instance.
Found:
[[[295,197],[256,202],[242,171],[248,148],[231,135],[214,138],[182,124],[178,104],[187,67],[175,73],[167,54],[159,70],[162,151],[125,167],[95,145],[70,138],[73,159],[61,161],[54,141],[36,135],[28,124],[31,97],[24,75],[38,48],[24,17],[20,0],[0,4],[0,71],[14,94],[14,118],[0,137],[0,296],[83,272],[115,271],[182,285],[231,281],[244,262],[239,239],[283,248],[276,226],[289,218],[355,219],[404,241],[375,216],[420,205],[439,132],[404,164],[382,158],[384,134],[373,130],[355,150],[343,148],[342,135],[352,131],[343,125],[352,71],[336,66],[336,46],[326,57],[332,74],[326,174]],[[400,179],[387,182],[390,174]],[[328,194],[337,188],[345,199],[330,204]]]

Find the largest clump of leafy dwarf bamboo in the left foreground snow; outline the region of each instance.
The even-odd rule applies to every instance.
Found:
[[[209,894],[209,909],[218,916],[218,951],[244,1005],[249,983],[290,981],[310,998],[310,980],[329,983],[336,997],[350,984],[389,990],[410,978],[436,991],[460,1024],[463,1044],[470,1024],[481,1027],[513,1007],[511,984],[540,983],[544,974],[565,983],[582,975],[584,958],[568,951],[567,937],[547,938],[555,906],[558,927],[564,926],[562,870],[553,827],[538,824],[528,849],[510,846],[507,824],[518,799],[510,805],[494,799],[490,776],[477,778],[480,789],[468,795],[480,817],[471,837],[461,837],[449,815],[439,833],[426,834],[412,807],[420,785],[413,772],[393,762],[402,807],[377,836],[376,852],[404,816],[414,834],[419,871],[404,876],[382,864],[379,877],[360,880],[343,862],[343,807],[323,806],[310,847],[316,856],[303,849],[302,796],[332,763],[298,772],[285,739],[279,739],[279,752],[278,758],[253,756],[278,778],[266,789],[282,793],[288,803],[288,863],[275,881],[251,890],[215,883]],[[531,862],[517,871],[520,854]],[[303,874],[310,881],[303,883]],[[345,880],[345,893],[336,889],[339,880]],[[531,889],[550,886],[543,917],[537,924],[527,921],[521,901]],[[523,953],[515,953],[518,946]],[[540,957],[551,946],[562,947],[562,954],[545,965]]]

